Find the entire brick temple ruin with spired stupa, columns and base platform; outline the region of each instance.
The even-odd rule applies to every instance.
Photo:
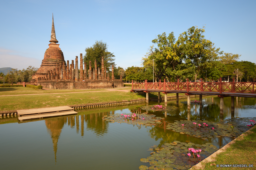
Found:
[[[101,58],[101,69],[94,61],[94,69],[92,70],[89,61],[89,69],[87,72],[86,62],[83,63],[82,54],[80,54],[80,66],[78,66],[78,56],[74,60],[67,63],[64,55],[59,48],[56,39],[54,20],[52,16],[51,40],[49,48],[46,50],[41,67],[32,76],[31,84],[41,85],[51,89],[99,89],[123,87],[121,79],[114,79],[114,66],[112,65],[112,77],[110,80],[109,73],[107,76],[106,67],[104,67],[104,58]],[[97,69],[98,68],[98,69]],[[80,71],[79,71],[80,69]]]

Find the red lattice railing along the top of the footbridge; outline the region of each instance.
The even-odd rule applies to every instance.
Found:
[[[233,92],[233,93],[256,93],[256,82],[222,82],[220,78],[219,82],[147,82],[133,83],[132,90],[179,90],[184,92],[189,91],[201,91],[201,92]]]

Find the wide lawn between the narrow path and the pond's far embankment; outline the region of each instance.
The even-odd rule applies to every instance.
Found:
[[[50,90],[49,90],[50,91]],[[67,94],[45,94],[45,95],[22,95],[0,97],[0,110],[19,110],[30,108],[56,107],[74,104],[86,104],[108,101],[120,101],[144,98],[143,95],[136,95],[127,92],[85,92]]]

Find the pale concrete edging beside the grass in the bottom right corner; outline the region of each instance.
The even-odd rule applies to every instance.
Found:
[[[196,170],[196,169],[204,169],[204,165],[203,163],[208,163],[208,162],[213,162],[216,161],[215,157],[217,156],[217,154],[220,154],[221,152],[226,151],[227,148],[230,147],[231,144],[235,143],[237,140],[241,140],[241,138],[246,135],[245,133],[250,132],[252,128],[250,128],[249,130],[243,132],[240,136],[238,136],[236,139],[230,141],[228,144],[226,144],[225,146],[223,146],[222,148],[220,148],[219,150],[217,150],[216,152],[214,152],[213,154],[211,154],[210,156],[208,156],[206,159],[202,160],[201,162],[199,162],[198,164],[192,166],[190,168],[190,170]]]

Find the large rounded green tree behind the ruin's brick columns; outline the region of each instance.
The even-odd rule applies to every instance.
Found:
[[[107,43],[101,41],[95,41],[95,43],[91,47],[87,47],[85,49],[85,55],[83,58],[83,62],[86,62],[87,69],[89,69],[89,61],[92,62],[92,69],[94,68],[94,60],[96,59],[97,67],[101,69],[101,57],[104,58],[104,67],[106,67],[107,72],[112,69],[112,65],[115,66],[113,54],[108,51]]]

